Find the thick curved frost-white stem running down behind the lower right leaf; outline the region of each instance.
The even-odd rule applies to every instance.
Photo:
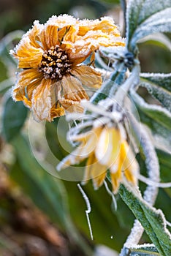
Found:
[[[149,138],[145,129],[141,129],[140,124],[134,118],[134,116],[129,115],[129,121],[131,122],[132,129],[134,130],[137,140],[141,141],[142,151],[145,154],[145,165],[148,170],[148,177],[151,179],[151,181],[159,183],[159,161],[156,156],[155,148],[151,143],[151,139]],[[153,204],[155,203],[158,189],[158,187],[152,185],[148,185],[145,189],[143,198],[151,206],[153,206]],[[134,222],[134,226],[132,227],[132,231],[123,246],[123,250],[124,248],[130,248],[135,244],[137,245],[140,241],[143,230],[144,229],[142,225],[136,219]],[[121,252],[121,255],[123,255],[123,250]]]

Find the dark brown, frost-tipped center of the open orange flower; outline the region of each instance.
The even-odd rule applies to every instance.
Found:
[[[61,80],[63,75],[71,71],[71,66],[66,51],[56,45],[43,53],[39,71],[43,72],[44,78]]]

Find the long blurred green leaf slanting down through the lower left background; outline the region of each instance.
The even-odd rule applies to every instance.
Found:
[[[51,221],[66,230],[69,237],[80,245],[86,255],[91,255],[90,247],[72,223],[64,184],[38,164],[31,154],[28,141],[22,135],[12,140],[12,146],[15,147],[19,167],[12,170],[11,177]]]

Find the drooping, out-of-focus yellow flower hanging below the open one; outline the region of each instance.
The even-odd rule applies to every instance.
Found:
[[[87,158],[84,184],[92,178],[94,188],[99,188],[104,182],[107,170],[110,170],[114,193],[118,191],[123,176],[132,184],[137,184],[139,166],[123,129],[96,127],[76,135],[73,140],[80,142],[80,145],[60,162],[58,170],[78,164]]]

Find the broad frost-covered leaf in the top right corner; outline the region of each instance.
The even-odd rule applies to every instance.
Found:
[[[171,30],[170,0],[130,0],[126,13],[127,47],[148,34]]]

